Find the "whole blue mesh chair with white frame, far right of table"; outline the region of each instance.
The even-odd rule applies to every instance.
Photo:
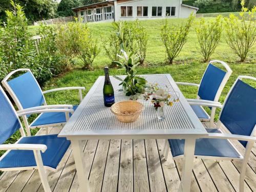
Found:
[[[215,67],[213,63],[221,63],[227,72]],[[218,105],[221,106],[221,103],[218,102],[221,92],[225,87],[225,84],[230,77],[232,70],[229,66],[220,60],[212,60],[209,62],[208,67],[206,68],[204,75],[201,79],[200,84],[187,83],[187,82],[176,82],[177,84],[184,86],[195,86],[198,87],[198,96],[197,99],[187,99],[191,108],[196,113],[197,117],[201,121],[210,121],[210,126],[214,123],[216,107],[212,106]],[[209,116],[202,106],[208,106],[211,110],[211,115]]]

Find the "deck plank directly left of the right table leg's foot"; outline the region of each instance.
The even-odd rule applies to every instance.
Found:
[[[177,191],[180,186],[180,178],[179,178],[178,170],[170,151],[168,153],[167,160],[164,159],[164,155],[163,155],[164,143],[165,143],[165,139],[157,140],[158,152],[160,154],[160,159],[161,159],[161,164],[163,169],[163,176],[164,176],[168,191]]]

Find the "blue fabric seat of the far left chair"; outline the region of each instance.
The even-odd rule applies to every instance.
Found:
[[[77,109],[78,105],[73,106],[73,110]],[[71,114],[70,114],[71,116]],[[32,124],[31,126],[55,124],[55,123],[65,123],[66,115],[65,113],[42,113]]]

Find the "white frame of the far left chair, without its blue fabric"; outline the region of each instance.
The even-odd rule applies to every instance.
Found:
[[[82,97],[82,90],[86,90],[86,88],[84,87],[66,87],[66,88],[57,88],[57,89],[52,89],[52,90],[47,90],[47,91],[42,91],[37,80],[35,79],[38,88],[41,90],[41,94],[44,97],[45,102],[43,103],[43,105],[41,106],[35,106],[33,108],[28,108],[28,109],[23,109],[22,104],[19,102],[19,99],[16,97],[15,93],[13,92],[13,90],[11,89],[11,87],[9,86],[9,84],[7,83],[8,79],[16,72],[20,72],[20,71],[24,71],[24,72],[29,72],[32,74],[33,78],[35,79],[33,73],[31,72],[30,69],[17,69],[12,71],[11,73],[9,73],[3,80],[2,80],[2,84],[5,87],[5,89],[8,91],[8,93],[11,95],[11,97],[13,98],[15,104],[17,105],[18,111],[17,114],[19,116],[22,116],[22,119],[24,121],[25,124],[25,129],[26,132],[28,134],[28,136],[31,136],[30,134],[30,129],[35,129],[35,128],[41,128],[41,127],[46,127],[46,131],[47,134],[49,133],[49,127],[52,126],[63,126],[66,124],[66,122],[63,123],[54,123],[54,124],[46,124],[46,125],[38,125],[38,126],[31,126],[39,117],[42,113],[48,113],[48,112],[66,112],[66,109],[72,109],[73,105],[71,104],[56,104],[56,105],[47,105],[46,103],[46,99],[45,99],[45,94],[50,93],[50,92],[55,92],[55,91],[63,91],[63,90],[78,90],[79,93],[79,99],[80,102],[82,101],[83,97]],[[62,111],[61,111],[62,109]],[[57,111],[56,111],[57,110]],[[27,115],[28,114],[32,114],[34,112],[38,112],[40,115],[31,123],[29,124],[28,122],[28,118]],[[26,115],[25,115],[26,112]],[[66,113],[66,118],[68,118],[69,113]]]

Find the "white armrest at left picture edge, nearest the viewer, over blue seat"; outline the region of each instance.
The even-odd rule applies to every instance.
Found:
[[[47,146],[43,144],[2,144],[0,150],[37,150],[44,153]]]

